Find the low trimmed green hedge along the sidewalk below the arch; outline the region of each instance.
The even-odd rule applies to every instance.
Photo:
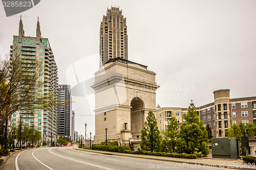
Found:
[[[81,146],[79,146],[81,148]],[[129,147],[118,146],[118,145],[102,145],[102,144],[93,144],[92,150],[101,150],[101,151],[110,151],[118,152],[124,154],[137,154],[137,155],[154,155],[154,156],[164,156],[164,157],[174,157],[174,158],[185,158],[185,159],[196,159],[195,154],[178,154],[178,153],[165,153],[165,152],[151,152],[151,151],[131,151]]]

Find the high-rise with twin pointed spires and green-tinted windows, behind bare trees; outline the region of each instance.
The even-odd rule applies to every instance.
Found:
[[[37,21],[36,37],[25,36],[22,18],[19,20],[19,34],[13,36],[13,50],[20,50],[22,62],[26,65],[34,61],[39,63],[38,88],[35,91],[39,96],[53,94],[57,97],[58,93],[58,76],[57,65],[54,59],[52,48],[48,38],[41,37],[39,20]],[[34,68],[35,69],[35,68]],[[33,69],[32,69],[33,70]],[[35,110],[34,114],[26,114],[26,111],[20,110],[13,114],[12,125],[18,125],[19,117],[25,126],[34,126],[41,131],[42,140],[39,145],[51,145],[51,140],[55,141],[57,128],[57,106],[52,106],[48,110]]]

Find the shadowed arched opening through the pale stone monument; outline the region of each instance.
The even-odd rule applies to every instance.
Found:
[[[131,101],[131,131],[133,137],[140,137],[143,127],[143,114],[141,110],[144,108],[144,103],[140,98],[134,98]]]

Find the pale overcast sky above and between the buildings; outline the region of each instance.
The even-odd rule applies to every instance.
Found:
[[[73,94],[79,134],[84,123],[87,135],[95,134],[88,82],[99,68],[99,27],[111,6],[120,7],[127,19],[129,60],[157,74],[156,104],[187,107],[193,99],[202,106],[214,102],[212,92],[221,88],[229,88],[231,98],[256,96],[256,1],[44,0],[21,13],[25,36],[36,36],[39,16],[59,84],[81,84],[77,89],[86,91]],[[6,17],[0,5],[1,57],[18,35],[19,15]],[[74,69],[79,82],[72,77]]]

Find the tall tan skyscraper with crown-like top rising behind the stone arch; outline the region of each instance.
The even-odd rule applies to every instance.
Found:
[[[128,37],[126,18],[122,10],[107,9],[100,23],[100,67],[113,58],[128,60]]]

